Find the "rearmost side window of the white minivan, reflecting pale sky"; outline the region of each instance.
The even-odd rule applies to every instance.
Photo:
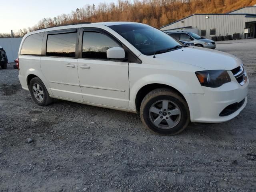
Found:
[[[41,55],[43,36],[43,32],[28,36],[23,42],[20,54]]]

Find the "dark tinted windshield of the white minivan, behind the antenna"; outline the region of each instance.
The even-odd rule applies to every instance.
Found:
[[[144,55],[153,55],[154,46],[155,53],[159,54],[160,51],[181,45],[165,32],[145,24],[121,24],[108,27],[120,34]]]

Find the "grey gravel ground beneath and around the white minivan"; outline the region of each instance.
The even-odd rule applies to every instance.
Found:
[[[177,136],[152,134],[137,114],[38,106],[9,64],[0,70],[0,191],[256,191],[256,41],[230,42],[217,50],[243,60],[246,108]]]

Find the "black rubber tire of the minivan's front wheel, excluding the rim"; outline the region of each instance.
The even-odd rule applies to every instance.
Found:
[[[168,128],[169,127],[168,125],[166,125],[167,127],[165,127],[165,128],[159,128],[158,126],[155,126],[152,122],[152,117],[151,117],[152,113],[150,112],[150,109],[154,104],[157,104],[158,101],[160,101],[160,100],[168,100],[168,107],[169,106],[173,107],[175,104],[177,109],[179,109],[180,114],[177,116],[175,116],[175,115],[172,116],[172,118],[176,118],[174,121],[176,121],[176,123],[177,123],[172,128]],[[163,106],[162,106],[162,108],[163,108]],[[175,108],[175,106],[174,106],[174,108]],[[167,111],[168,110],[169,109],[167,109]],[[170,114],[170,113],[168,113],[168,114]],[[168,114],[165,114],[165,116],[164,116],[163,120],[165,122],[162,121],[161,123],[167,124],[167,121],[165,120],[165,118],[168,118],[167,117]],[[154,115],[156,115],[156,114],[154,114]],[[160,114],[158,114],[158,115],[159,115],[158,117],[161,117]],[[164,113],[162,113],[162,115],[164,115]],[[190,112],[189,112],[188,104],[186,103],[184,98],[182,98],[182,96],[180,96],[178,93],[172,91],[171,89],[158,88],[158,89],[155,89],[155,90],[152,90],[151,92],[149,92],[142,100],[142,103],[140,106],[140,118],[141,118],[142,122],[146,125],[146,127],[150,128],[150,130],[152,130],[158,134],[176,135],[176,134],[182,132],[188,126],[188,123],[190,122]],[[169,116],[169,118],[171,118],[171,116]],[[177,118],[179,121],[177,120]],[[163,126],[165,126],[165,125],[163,125]]]

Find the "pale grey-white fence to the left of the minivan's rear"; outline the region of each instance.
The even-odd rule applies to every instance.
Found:
[[[9,63],[18,57],[21,40],[22,38],[0,38],[0,46],[4,48]]]

